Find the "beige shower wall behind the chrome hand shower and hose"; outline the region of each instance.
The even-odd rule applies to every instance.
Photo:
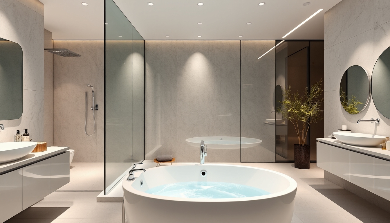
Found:
[[[67,48],[81,57],[54,55],[54,136],[56,146],[75,150],[74,162],[103,161],[104,64],[103,41],[54,41],[54,48]],[[100,50],[99,50],[100,49]],[[94,86],[96,132],[87,136],[84,129],[87,92],[87,133],[94,132],[92,91]]]

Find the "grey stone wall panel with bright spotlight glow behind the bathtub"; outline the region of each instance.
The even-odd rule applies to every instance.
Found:
[[[145,41],[145,58],[145,159],[199,162],[185,139],[239,136],[239,41]],[[239,150],[210,149],[206,158],[239,160]]]

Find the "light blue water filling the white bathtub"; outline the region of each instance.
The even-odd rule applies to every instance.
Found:
[[[153,187],[145,193],[177,198],[245,198],[270,194],[262,189],[225,182],[177,182]]]

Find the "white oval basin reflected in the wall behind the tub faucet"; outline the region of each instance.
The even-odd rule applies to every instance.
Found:
[[[208,149],[239,149],[250,148],[261,144],[262,140],[237,136],[207,136],[193,137],[186,139],[186,143],[190,146],[200,146],[200,141],[204,141],[204,145]]]

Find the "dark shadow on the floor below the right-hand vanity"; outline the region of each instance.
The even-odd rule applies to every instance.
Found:
[[[319,188],[310,185],[363,223],[388,223],[390,213],[342,188]]]

